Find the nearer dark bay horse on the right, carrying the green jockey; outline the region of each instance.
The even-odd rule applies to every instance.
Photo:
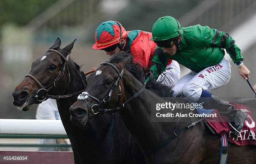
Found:
[[[138,140],[148,163],[217,164],[219,136],[210,134],[202,122],[159,147],[167,138],[174,137],[174,131],[187,127],[198,118],[189,117],[186,122],[178,123],[152,122],[152,107],[156,107],[156,103],[164,104],[166,101],[150,89],[143,89],[144,85],[125,69],[131,60],[131,56],[120,52],[111,57],[109,62],[102,63],[96,72],[88,77],[88,87],[82,95],[83,98],[70,107],[73,121],[84,124],[97,118],[101,112],[119,111],[126,127]],[[256,99],[240,102],[253,109],[255,115]],[[184,114],[195,113],[195,110],[182,111]],[[175,112],[179,110],[175,109],[174,114]],[[228,143],[228,146],[228,163],[256,163],[255,145],[240,147]]]

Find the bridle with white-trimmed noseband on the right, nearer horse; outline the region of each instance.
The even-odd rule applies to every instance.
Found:
[[[138,95],[140,95],[140,94],[143,92],[143,90],[145,89],[146,84],[144,83],[143,86],[141,87],[141,89],[140,89],[138,92],[136,92],[135,94],[133,94],[133,96],[132,96],[131,98],[129,98],[126,102],[123,102],[122,104],[120,104],[120,97],[121,97],[121,93],[122,93],[122,92],[121,92],[121,87],[120,87],[120,80],[121,80],[122,77],[123,77],[124,68],[123,68],[123,70],[120,72],[120,71],[118,70],[118,68],[117,68],[115,65],[113,65],[112,63],[110,63],[110,62],[103,62],[103,63],[101,63],[100,65],[109,65],[109,66],[111,66],[111,67],[115,70],[115,72],[118,74],[118,78],[117,78],[117,80],[115,80],[115,82],[114,82],[114,84],[112,85],[111,89],[108,91],[108,93],[105,95],[105,97],[104,97],[101,101],[100,101],[99,99],[97,99],[96,97],[94,97],[94,96],[88,94],[87,92],[83,92],[82,94],[80,94],[80,97],[88,96],[88,97],[91,97],[92,99],[95,99],[95,100],[98,102],[98,104],[93,104],[92,107],[89,108],[89,105],[88,105],[87,100],[86,100],[85,98],[83,99],[84,102],[85,102],[85,104],[87,105],[88,109],[90,109],[90,112],[91,112],[92,114],[99,114],[99,113],[109,113],[109,114],[113,114],[113,113],[119,111],[120,109],[123,109],[126,103],[128,103],[128,102],[131,101],[132,99],[138,97]],[[102,106],[103,104],[105,104],[107,99],[108,99],[108,101],[110,100],[110,97],[111,97],[113,91],[115,90],[115,87],[117,87],[117,86],[119,86],[118,105],[119,105],[119,104],[120,104],[120,105],[119,105],[118,107],[116,107],[116,108],[113,108],[113,109],[101,109],[100,106]]]

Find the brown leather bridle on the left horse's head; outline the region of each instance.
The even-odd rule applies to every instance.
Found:
[[[37,101],[39,102],[43,102],[44,100],[46,100],[46,98],[51,98],[51,99],[60,99],[60,98],[67,98],[67,97],[71,97],[71,96],[74,96],[74,95],[77,95],[79,94],[80,92],[83,92],[84,90],[82,91],[79,91],[79,92],[75,92],[75,93],[72,93],[72,94],[67,94],[67,95],[49,95],[48,92],[49,90],[51,90],[53,87],[56,87],[56,83],[61,79],[61,77],[64,75],[65,73],[65,70],[66,70],[66,67],[67,67],[67,86],[69,87],[69,84],[70,84],[70,73],[69,73],[69,67],[68,67],[68,55],[67,57],[65,57],[63,54],[61,54],[61,52],[57,51],[57,50],[53,50],[53,49],[49,49],[49,50],[46,50],[46,52],[48,51],[54,51],[56,53],[58,53],[64,60],[65,60],[65,63],[64,65],[62,65],[61,69],[59,70],[59,73],[58,75],[56,76],[56,78],[49,84],[47,85],[46,87],[44,87],[37,79],[36,77],[34,77],[33,75],[30,75],[30,74],[27,74],[25,76],[26,77],[31,77],[40,87],[41,89],[39,89],[37,92],[36,92],[36,95],[34,96],[34,98],[36,98]],[[40,95],[40,96],[39,96]]]

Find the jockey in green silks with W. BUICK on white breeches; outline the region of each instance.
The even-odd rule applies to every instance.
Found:
[[[245,80],[249,78],[250,71],[243,64],[243,56],[235,40],[228,33],[208,26],[181,27],[171,16],[160,17],[154,23],[152,36],[150,40],[158,46],[150,68],[154,78],[157,79],[164,71],[168,59],[190,69],[191,72],[174,85],[174,97],[183,95],[194,102],[204,102],[206,109],[217,109],[229,117],[237,136],[247,114],[209,92],[223,87],[230,80],[231,68],[224,57],[224,48],[238,66],[239,74]]]

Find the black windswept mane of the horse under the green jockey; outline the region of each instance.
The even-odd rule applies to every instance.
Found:
[[[135,77],[138,81],[143,83],[145,81],[145,68],[143,68],[138,62],[133,62],[133,57],[130,53],[121,51],[119,53],[115,53],[112,55],[108,62],[122,62],[124,60],[128,60],[128,63],[125,65],[125,68],[130,72],[133,77]],[[151,90],[159,97],[172,97],[172,87],[161,84],[160,82],[156,82],[153,80],[154,78],[150,78],[146,84],[146,89]]]

